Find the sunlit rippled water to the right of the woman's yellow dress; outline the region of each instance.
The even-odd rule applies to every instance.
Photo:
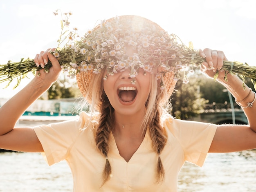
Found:
[[[185,163],[180,192],[255,192],[256,150],[209,154],[202,168]]]

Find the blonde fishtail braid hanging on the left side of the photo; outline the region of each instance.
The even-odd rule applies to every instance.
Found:
[[[103,100],[108,100],[106,94]],[[97,128],[96,136],[95,136],[95,142],[96,146],[99,149],[99,151],[106,157],[106,164],[103,171],[103,183],[106,183],[110,179],[111,175],[111,166],[108,160],[108,151],[109,151],[109,137],[112,127],[112,114],[113,114],[113,108],[110,105],[110,103],[102,102],[101,108],[100,108],[100,117],[99,117],[99,126]]]

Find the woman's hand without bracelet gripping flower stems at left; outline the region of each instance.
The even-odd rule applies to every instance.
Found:
[[[40,65],[43,68],[36,72],[35,80],[37,80],[38,83],[43,83],[43,85],[48,87],[51,86],[58,79],[58,76],[61,73],[60,63],[58,62],[57,58],[54,57],[54,55],[52,54],[52,51],[54,50],[55,49],[47,49],[46,51],[41,51],[40,54],[36,54],[34,58],[34,62],[36,63],[36,65]],[[49,68],[48,72],[45,72],[45,65],[48,65],[47,63],[49,61],[51,61],[52,67]]]

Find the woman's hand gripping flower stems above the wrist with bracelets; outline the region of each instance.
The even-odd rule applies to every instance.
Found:
[[[206,48],[204,50],[199,51],[201,57],[205,58],[201,65],[201,71],[207,74],[209,77],[213,78],[216,74],[216,71],[219,71],[217,79],[224,79],[225,71],[221,71],[220,69],[223,66],[223,61],[227,60],[223,51],[211,50]]]

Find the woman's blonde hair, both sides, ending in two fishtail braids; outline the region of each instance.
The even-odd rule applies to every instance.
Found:
[[[92,90],[91,98],[91,112],[95,112],[95,109],[99,110],[98,126],[95,133],[95,143],[98,150],[106,158],[105,168],[103,170],[103,182],[106,183],[110,179],[111,166],[108,160],[109,151],[109,138],[111,132],[113,132],[113,125],[115,123],[114,111],[115,109],[110,105],[108,97],[103,90],[103,75],[104,69],[101,74],[93,76],[91,80],[90,89]],[[150,78],[150,94],[146,101],[146,115],[141,125],[143,134],[149,130],[150,137],[153,143],[153,149],[158,155],[157,169],[156,169],[156,182],[161,183],[164,179],[164,167],[162,165],[160,154],[164,149],[167,141],[167,135],[164,128],[161,125],[160,117],[166,103],[166,90],[160,88],[160,80],[156,80],[155,72],[153,72]],[[167,98],[168,100],[168,98]]]

